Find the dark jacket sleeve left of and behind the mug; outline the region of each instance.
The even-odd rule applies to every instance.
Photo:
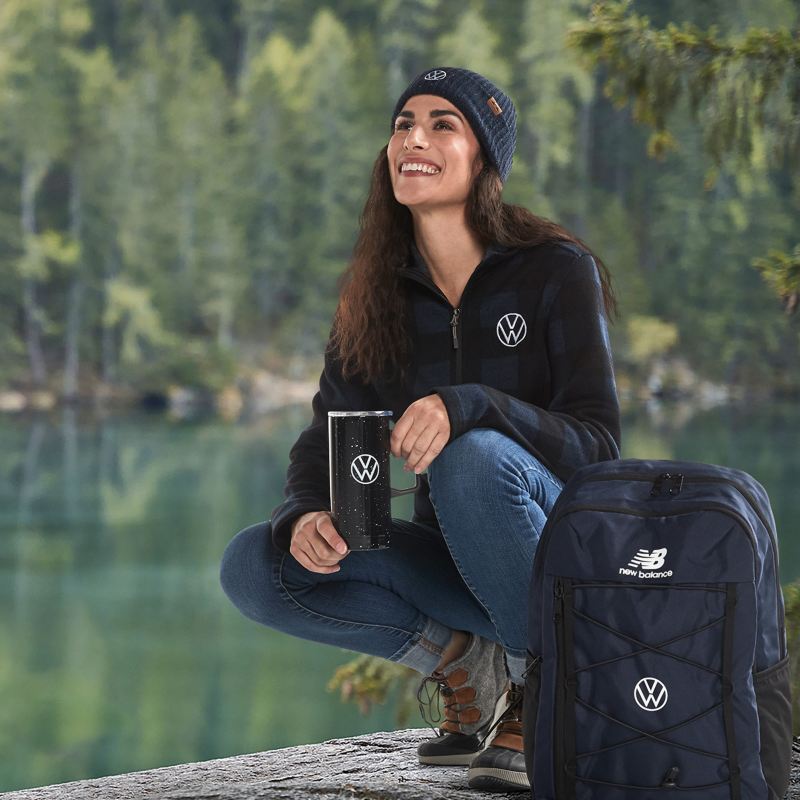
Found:
[[[311,401],[313,418],[289,451],[289,467],[284,486],[285,500],[272,512],[272,541],[288,553],[292,523],[308,511],[330,511],[330,471],[328,463],[328,412],[379,410],[380,400],[371,384],[357,378],[345,380],[341,363],[325,349],[325,364],[319,389]]]

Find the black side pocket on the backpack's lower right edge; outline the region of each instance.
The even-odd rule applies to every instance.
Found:
[[[753,675],[761,734],[761,768],[769,800],[781,800],[789,787],[792,760],[792,697],[789,656]]]

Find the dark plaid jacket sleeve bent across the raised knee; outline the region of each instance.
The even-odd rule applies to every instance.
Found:
[[[619,401],[594,259],[575,256],[555,279],[560,284],[547,316],[547,408],[481,383],[435,391],[447,408],[450,441],[471,428],[494,428],[566,481],[585,464],[619,458]]]

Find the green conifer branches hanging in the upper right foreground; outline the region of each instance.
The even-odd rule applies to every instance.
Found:
[[[648,153],[663,158],[681,137],[668,130],[688,102],[703,147],[711,156],[705,186],[713,187],[723,168],[744,176],[743,166],[800,165],[800,37],[788,27],[749,28],[723,37],[712,25],[669,23],[656,29],[632,10],[631,0],[592,6],[589,19],[573,26],[568,40],[587,63],[607,68],[606,94],[618,106],[633,105],[633,116],[653,129]],[[728,205],[733,225],[748,226],[742,204]],[[800,275],[792,257],[771,250],[756,259],[765,281],[794,310]]]

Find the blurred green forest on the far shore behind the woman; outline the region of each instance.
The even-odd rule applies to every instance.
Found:
[[[4,0],[0,391],[316,377],[394,101],[451,64],[516,104],[506,201],[609,267],[623,394],[795,396],[799,18],[790,0]]]

